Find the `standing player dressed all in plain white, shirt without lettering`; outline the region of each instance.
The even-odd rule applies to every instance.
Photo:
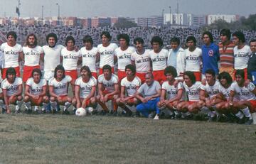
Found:
[[[60,51],[64,48],[63,45],[57,45],[58,39],[55,33],[46,35],[48,45],[43,46],[43,78],[49,81],[54,76],[54,70],[60,64]]]

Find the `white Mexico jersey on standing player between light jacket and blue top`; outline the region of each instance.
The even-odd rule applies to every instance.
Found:
[[[185,50],[186,71],[199,72],[202,61],[202,50],[196,48],[193,52]]]

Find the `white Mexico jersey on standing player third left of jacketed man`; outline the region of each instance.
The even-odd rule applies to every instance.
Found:
[[[125,66],[131,64],[131,55],[135,52],[134,47],[128,47],[126,50],[121,50],[117,48],[114,50],[114,55],[117,56],[118,70],[125,70]]]

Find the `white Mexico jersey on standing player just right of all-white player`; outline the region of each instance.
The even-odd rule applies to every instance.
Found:
[[[78,59],[81,57],[80,50],[68,50],[63,48],[61,50],[60,56],[63,58],[63,67],[65,70],[77,70]]]

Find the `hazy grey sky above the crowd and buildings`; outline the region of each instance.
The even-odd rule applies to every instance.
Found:
[[[177,0],[20,0],[21,16],[154,16],[176,12]],[[179,13],[238,14],[248,16],[256,13],[255,0],[178,0]],[[0,16],[17,16],[18,0],[0,0]]]

